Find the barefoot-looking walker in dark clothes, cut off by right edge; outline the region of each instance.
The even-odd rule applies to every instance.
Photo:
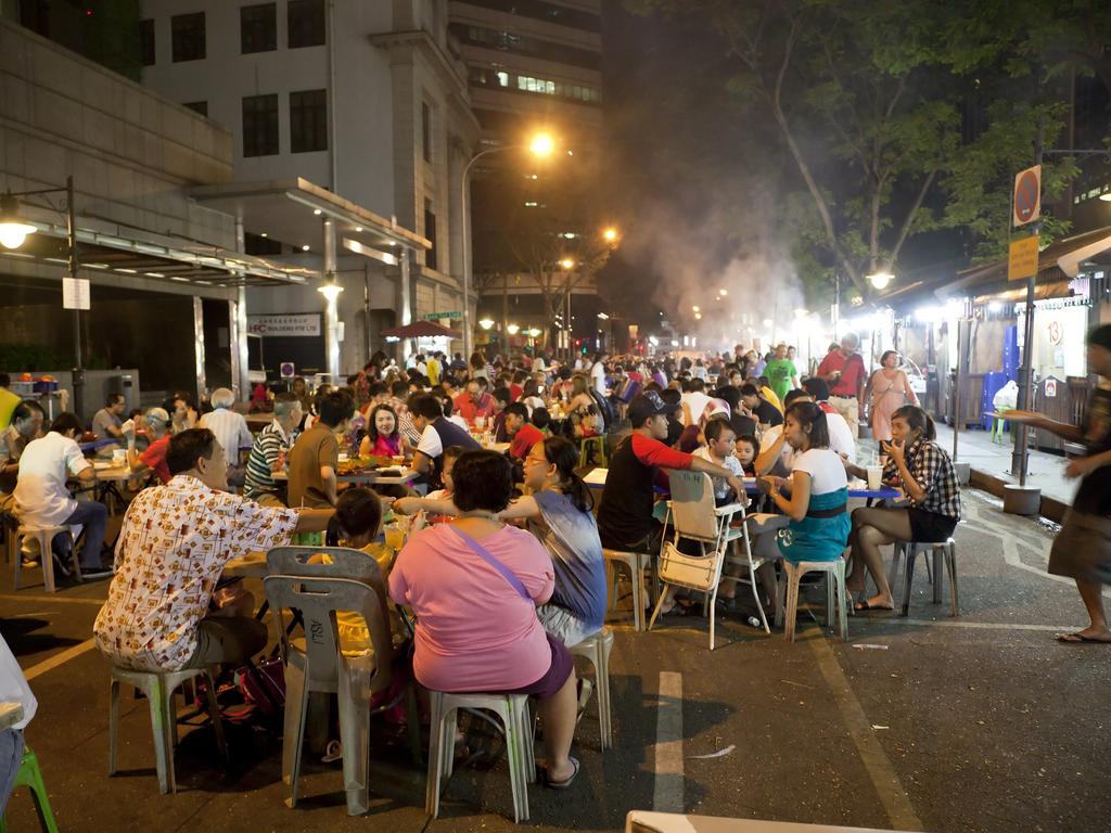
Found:
[[[1080,488],[1049,556],[1049,572],[1075,580],[1088,609],[1087,628],[1057,636],[1072,644],[1111,643],[1103,609],[1103,585],[1111,584],[1111,324],[1088,333],[1088,369],[1100,381],[1089,397],[1083,425],[1055,422],[1033,411],[1007,413],[1008,420],[1084,446],[1084,456],[1072,460],[1064,470],[1065,476],[1081,479]]]

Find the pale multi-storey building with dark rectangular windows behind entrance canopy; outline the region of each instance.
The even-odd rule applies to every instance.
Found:
[[[301,180],[358,209],[329,230],[321,225],[329,210],[318,207],[299,225],[283,223],[278,237],[268,227],[280,222],[281,194],[268,205],[248,189],[251,210],[241,212],[234,189],[200,195],[241,214],[247,252],[334,275],[343,289],[341,374],[388,347],[383,330],[462,308],[460,189],[479,124],[447,12],[447,0],[142,3],[143,83],[231,131],[237,183]],[[412,250],[407,280],[382,240],[344,222],[360,211],[424,241]],[[250,291],[248,307],[320,312],[314,290]],[[299,364],[330,368],[312,350],[300,355]]]

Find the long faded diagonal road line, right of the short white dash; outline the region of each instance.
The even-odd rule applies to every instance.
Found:
[[[899,775],[895,773],[891,760],[875,737],[871,721],[864,715],[860,701],[849,688],[849,680],[845,678],[841,664],[837,661],[833,649],[830,648],[824,636],[811,638],[807,642],[810,643],[810,648],[815,654],[818,668],[830,686],[833,700],[841,711],[845,727],[849,730],[849,736],[857,746],[857,752],[868,771],[872,786],[875,787],[875,792],[883,803],[883,809],[891,820],[891,826],[894,830],[924,830],[924,825],[914,813],[907,791],[899,781]]]

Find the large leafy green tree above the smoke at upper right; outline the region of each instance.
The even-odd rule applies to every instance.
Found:
[[[908,240],[923,232],[963,228],[978,251],[998,251],[1008,229],[1008,177],[1032,163],[1039,124],[1047,143],[1063,126],[1061,108],[1043,88],[1048,72],[1015,82],[1003,66],[1003,36],[987,46],[954,37],[970,24],[963,9],[944,8],[957,4],[632,6],[705,14],[724,34],[735,58],[729,89],[750,119],[771,117],[809,197],[805,204],[791,203],[797,243],[824,250],[862,295],[870,292],[865,275],[892,271]],[[980,76],[1009,102],[985,108],[982,131],[970,118],[983,93]],[[1034,86],[1037,94],[1023,86]],[[1052,199],[1074,169],[1071,160],[1045,168]]]

